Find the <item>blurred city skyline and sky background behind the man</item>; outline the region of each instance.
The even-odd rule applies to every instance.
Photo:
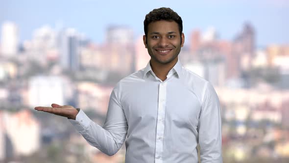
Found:
[[[102,125],[110,93],[149,61],[143,21],[183,19],[184,67],[210,81],[222,111],[224,163],[289,163],[289,1],[0,0],[0,163],[124,163],[106,156],[51,103]]]

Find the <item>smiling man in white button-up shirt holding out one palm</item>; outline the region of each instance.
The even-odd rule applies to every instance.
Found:
[[[170,8],[145,16],[147,66],[113,89],[101,127],[82,110],[52,104],[36,110],[68,117],[76,130],[107,155],[125,141],[126,163],[221,163],[221,118],[212,85],[181,66],[181,17]]]

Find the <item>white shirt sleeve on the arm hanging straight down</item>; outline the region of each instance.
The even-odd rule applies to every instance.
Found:
[[[201,163],[222,163],[221,111],[211,83],[204,88],[198,123]]]

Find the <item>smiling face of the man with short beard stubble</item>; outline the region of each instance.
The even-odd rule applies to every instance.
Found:
[[[161,64],[176,62],[185,40],[184,34],[180,35],[178,24],[161,20],[150,23],[147,29],[144,44],[151,61]]]

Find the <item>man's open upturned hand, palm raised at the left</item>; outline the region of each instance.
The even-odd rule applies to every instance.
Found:
[[[78,111],[69,105],[60,106],[58,104],[51,104],[51,107],[35,107],[34,109],[37,111],[45,111],[55,115],[60,115],[67,117],[68,119],[75,120]]]

